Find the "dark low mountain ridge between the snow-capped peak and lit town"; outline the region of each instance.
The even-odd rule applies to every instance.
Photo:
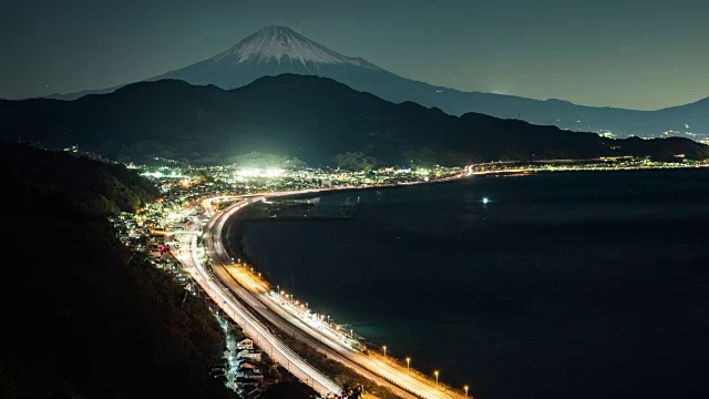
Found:
[[[2,101],[0,132],[6,141],[78,144],[109,156],[193,161],[251,151],[315,164],[351,151],[387,163],[455,165],[603,155],[709,157],[706,145],[686,139],[614,141],[477,113],[452,116],[413,102],[394,104],[330,79],[292,74],[230,91],[165,80],[75,101]]]

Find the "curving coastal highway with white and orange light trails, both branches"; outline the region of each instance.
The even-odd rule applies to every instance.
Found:
[[[461,174],[429,183],[452,181],[471,174],[472,170],[466,167]],[[387,186],[414,184],[425,184],[425,182],[397,183]],[[336,326],[322,320],[322,316],[316,319],[312,314],[294,306],[281,297],[279,293],[273,293],[265,282],[249,274],[244,267],[235,266],[224,247],[224,226],[239,211],[255,202],[285,195],[374,187],[382,187],[382,185],[312,188],[268,193],[265,195],[251,194],[205,198],[202,204],[205,209],[205,216],[208,217],[208,223],[203,232],[204,247],[198,245],[198,232],[194,231],[194,228],[198,228],[198,224],[195,224],[192,226],[195,234],[187,238],[183,236],[183,245],[181,245],[179,250],[176,250],[176,258],[183,263],[214,301],[244,328],[244,331],[255,340],[256,345],[269,354],[275,361],[287,367],[296,378],[311,386],[320,393],[332,392],[339,395],[340,387],[290,350],[260,320],[266,320],[292,338],[325,354],[328,358],[341,362],[380,386],[387,387],[401,398],[463,398],[462,392],[438,385],[438,382],[427,379],[417,372],[410,372],[407,367],[402,367],[390,358],[384,358],[373,352],[366,355],[359,349],[359,342],[353,337],[350,337],[347,331],[337,329]],[[237,202],[226,209],[217,212],[212,205],[215,201]],[[209,260],[208,266],[205,263],[205,258]]]

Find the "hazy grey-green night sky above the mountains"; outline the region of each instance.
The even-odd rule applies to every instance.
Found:
[[[23,0],[0,13],[0,96],[138,81],[281,24],[433,84],[658,109],[709,96],[708,16],[702,0]]]

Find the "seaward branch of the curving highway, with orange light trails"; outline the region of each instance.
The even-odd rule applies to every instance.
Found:
[[[364,377],[368,380],[373,381],[377,385],[381,386],[382,382],[389,383],[389,385],[384,385],[383,387],[387,387],[390,390],[393,389],[393,392],[399,392],[399,393],[395,393],[397,396],[411,397],[411,393],[413,393],[415,397],[423,396],[423,397],[432,397],[432,398],[459,398],[459,397],[462,398],[463,397],[462,391],[459,392],[459,390],[453,389],[452,387],[449,387],[442,382],[441,383],[433,382],[427,376],[418,372],[415,369],[411,369],[409,371],[405,364],[401,364],[401,361],[398,361],[394,358],[381,356],[376,350],[373,352],[371,350],[363,351],[362,349],[364,349],[364,346],[362,344],[364,341],[364,338],[359,335],[357,335],[356,337],[356,335],[351,330],[349,331],[349,334],[346,332],[348,330],[348,328],[345,328],[346,325],[338,324],[335,321],[335,319],[329,319],[327,324],[322,321],[323,324],[322,327],[318,327],[318,328],[325,328],[325,329],[321,331],[315,332],[316,330],[318,330],[318,328],[310,326],[310,324],[312,323],[310,318],[315,317],[314,314],[302,313],[298,315],[301,311],[299,309],[300,307],[298,307],[298,309],[292,308],[294,307],[292,299],[288,301],[287,299],[284,299],[279,295],[273,293],[273,290],[270,290],[270,285],[268,284],[268,282],[265,282],[261,278],[260,274],[258,277],[256,277],[255,270],[253,268],[251,268],[251,273],[249,273],[247,268],[239,267],[239,266],[243,266],[244,259],[239,259],[242,260],[239,264],[233,264],[230,266],[230,267],[236,267],[235,269],[227,270],[227,267],[229,267],[227,264],[229,263],[229,259],[233,259],[232,262],[236,263],[236,257],[239,256],[239,254],[246,256],[246,254],[243,252],[243,247],[239,247],[240,252],[238,253],[235,252],[229,239],[232,236],[229,235],[228,232],[230,232],[232,228],[234,228],[233,226],[235,225],[233,218],[236,217],[238,223],[237,213],[230,212],[230,209],[235,207],[243,209],[246,206],[253,203],[256,203],[261,198],[267,198],[267,197],[292,197],[292,196],[302,196],[302,195],[310,195],[310,194],[329,195],[338,192],[350,192],[350,191],[362,191],[362,190],[371,191],[371,190],[380,190],[380,188],[394,188],[400,186],[454,182],[463,177],[470,176],[470,173],[471,173],[470,167],[466,167],[463,170],[463,173],[459,173],[452,176],[446,176],[432,182],[418,181],[418,182],[404,183],[404,184],[399,183],[399,184],[387,184],[387,185],[366,186],[366,187],[306,190],[306,191],[296,192],[296,193],[273,193],[273,194],[265,193],[263,195],[250,196],[250,200],[246,202],[240,201],[238,203],[235,203],[234,205],[228,206],[224,211],[218,212],[215,215],[215,217],[212,218],[213,222],[216,222],[218,219],[217,224],[219,225],[218,234],[214,234],[216,232],[213,232],[214,235],[210,236],[210,241],[218,242],[218,246],[219,246],[218,248],[219,250],[214,253],[214,255],[217,256],[215,266],[218,265],[218,268],[223,270],[218,272],[217,274],[222,274],[223,276],[226,276],[225,273],[227,274],[237,273],[237,275],[240,274],[242,277],[237,277],[237,275],[230,275],[228,277],[229,282],[227,283],[227,286],[236,284],[237,286],[233,286],[232,288],[232,289],[235,289],[236,295],[242,296],[243,300],[245,300],[248,304],[253,303],[255,306],[260,308],[261,311],[266,311],[263,314],[263,316],[266,319],[269,319],[273,317],[282,318],[278,324],[275,324],[276,328],[281,329],[282,331],[290,330],[291,332],[286,332],[286,334],[292,337],[296,337],[298,335],[301,336],[301,338],[304,339],[300,339],[300,341],[311,346],[316,351],[321,352],[322,350],[325,350],[323,354],[331,352],[331,355],[326,355],[326,356],[328,358],[331,358],[342,364],[346,368],[352,369],[354,372],[359,374],[360,376]],[[228,214],[227,218],[223,218],[225,214]],[[213,222],[210,222],[209,225],[213,225]],[[229,226],[226,228],[227,232],[225,232],[225,228],[223,227],[224,227],[224,224],[227,224],[227,223],[229,224]],[[232,235],[234,233],[232,232]],[[227,243],[224,243],[225,238],[227,239]],[[239,243],[242,243],[242,239],[243,238],[239,237]],[[230,272],[230,270],[242,270],[242,272]],[[255,282],[257,284],[265,286],[265,288],[259,288],[256,291],[250,291],[251,288],[246,288],[247,286],[251,287],[253,283]],[[269,290],[271,293],[270,295],[268,294]],[[274,296],[275,298],[271,298],[271,296]],[[257,305],[257,303],[259,304]],[[297,305],[298,303],[295,301],[295,304]],[[306,314],[308,315],[308,317],[306,317]],[[319,317],[323,317],[323,315],[320,315]],[[282,323],[285,323],[286,325],[282,325]],[[280,328],[279,324],[281,325],[280,327],[285,329]],[[325,327],[326,325],[327,327]],[[308,344],[312,339],[315,339],[315,341],[312,341],[312,344]],[[348,364],[352,364],[352,366],[348,366]]]

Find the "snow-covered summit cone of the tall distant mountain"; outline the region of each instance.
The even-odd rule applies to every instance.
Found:
[[[268,62],[299,61],[307,63],[353,64],[369,69],[380,68],[360,59],[339,54],[325,45],[301,35],[287,27],[266,27],[247,37],[227,51],[216,55],[214,61]]]

